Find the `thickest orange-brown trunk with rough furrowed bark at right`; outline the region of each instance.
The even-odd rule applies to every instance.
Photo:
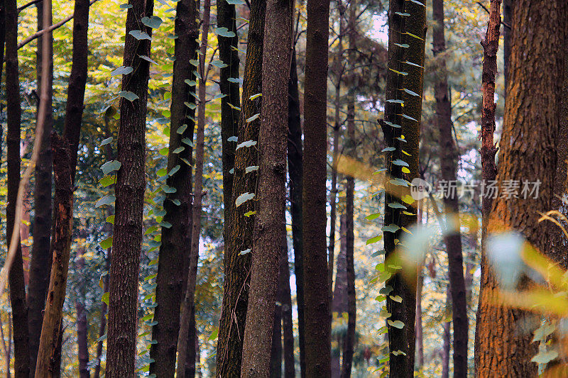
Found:
[[[498,1],[496,1],[498,3]],[[493,6],[498,4],[491,4]],[[497,8],[498,9],[498,8]],[[497,10],[495,13],[498,12]],[[517,1],[514,6],[509,66],[508,93],[501,136],[497,187],[505,180],[525,182],[539,180],[537,198],[499,197],[493,201],[488,217],[487,234],[510,229],[520,230],[538,250],[550,250],[551,227],[539,223],[540,213],[552,207],[554,194],[557,140],[562,109],[567,43],[566,1]],[[493,23],[491,12],[491,26]],[[521,27],[522,26],[522,27]],[[546,35],[546,40],[527,38],[527,33]],[[493,50],[494,51],[494,50]],[[535,125],[539,125],[535,128]],[[482,125],[483,126],[483,125]],[[542,162],[535,164],[535,162]],[[529,185],[532,188],[532,184]],[[526,193],[526,192],[525,192]],[[549,257],[555,258],[550,252]],[[485,257],[485,256],[483,256]],[[481,293],[477,318],[476,367],[479,377],[534,377],[537,365],[530,362],[536,352],[532,335],[520,332],[520,322],[530,320],[530,313],[496,306],[488,299],[498,289],[498,282],[482,260]],[[499,326],[494,326],[495,322]]]

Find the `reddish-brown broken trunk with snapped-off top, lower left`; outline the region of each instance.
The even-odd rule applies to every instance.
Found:
[[[48,298],[45,301],[43,325],[41,328],[38,361],[35,377],[54,377],[59,367],[56,350],[62,332],[62,309],[67,286],[67,271],[71,252],[73,222],[72,163],[69,144],[57,133],[51,136],[53,168],[55,177],[55,230],[53,238],[53,262],[51,267]]]

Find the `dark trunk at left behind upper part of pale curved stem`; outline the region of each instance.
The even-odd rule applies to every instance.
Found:
[[[43,30],[43,1],[37,4],[38,30]],[[51,23],[50,17],[50,23]],[[49,51],[43,56],[43,38],[48,38]],[[48,293],[51,270],[50,237],[52,226],[51,202],[51,145],[50,134],[53,126],[52,93],[53,93],[53,35],[48,33],[38,38],[36,62],[36,82],[38,94],[41,93],[41,70],[44,59],[50,61],[48,70],[48,107],[43,121],[43,137],[38,162],[35,165],[35,185],[33,188],[33,246],[30,260],[30,280],[28,284],[28,330],[30,333],[30,376],[35,375],[35,362],[45,308],[45,296]],[[38,101],[39,103],[39,101]],[[39,104],[38,104],[39,105]],[[39,116],[39,106],[38,106]],[[36,122],[37,124],[37,122]]]

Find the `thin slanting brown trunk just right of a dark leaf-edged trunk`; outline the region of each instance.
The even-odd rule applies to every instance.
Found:
[[[199,105],[197,106],[197,140],[195,148],[195,187],[193,188],[193,212],[191,227],[190,267],[187,272],[185,297],[182,302],[180,317],[180,333],[178,335],[178,378],[195,377],[196,355],[195,338],[195,286],[197,284],[197,262],[199,261],[202,194],[203,162],[204,162],[204,128],[205,128],[205,57],[207,56],[207,35],[209,33],[209,11],[211,1],[205,0],[202,14],[201,46],[200,46],[200,87]],[[192,341],[194,340],[194,341]],[[186,369],[186,365],[189,369]],[[187,371],[189,370],[189,371]]]

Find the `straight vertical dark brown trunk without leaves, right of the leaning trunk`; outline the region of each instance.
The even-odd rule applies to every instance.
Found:
[[[306,377],[329,377],[331,347],[326,253],[327,38],[329,0],[307,1],[302,237]]]

